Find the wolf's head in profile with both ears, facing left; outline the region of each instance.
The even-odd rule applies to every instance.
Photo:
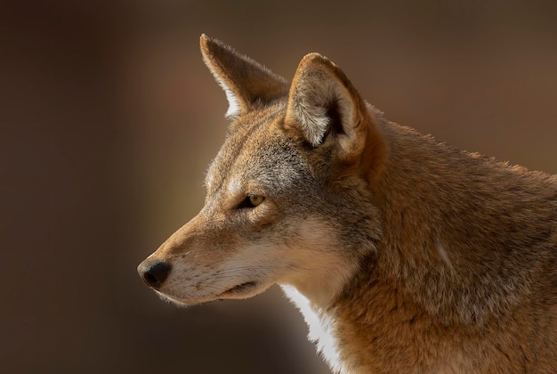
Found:
[[[138,272],[182,305],[274,283],[327,305],[381,233],[369,189],[385,153],[380,115],[318,53],[289,85],[205,35],[201,52],[230,105],[228,134],[206,173],[205,207]]]

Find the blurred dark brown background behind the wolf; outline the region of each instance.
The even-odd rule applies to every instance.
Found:
[[[327,372],[278,289],[184,310],[135,272],[223,140],[199,35],[288,78],[324,53],[387,118],[557,173],[555,4],[3,2],[2,371]]]

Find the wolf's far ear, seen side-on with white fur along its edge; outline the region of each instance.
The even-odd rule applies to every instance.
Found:
[[[203,61],[229,102],[226,118],[237,118],[254,106],[284,97],[288,93],[285,78],[260,63],[234,51],[219,40],[201,35]]]

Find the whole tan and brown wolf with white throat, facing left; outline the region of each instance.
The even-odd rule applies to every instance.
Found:
[[[150,287],[191,305],[278,283],[335,372],[557,372],[557,178],[386,121],[317,53],[288,85],[201,50],[233,121],[206,206],[140,264]]]

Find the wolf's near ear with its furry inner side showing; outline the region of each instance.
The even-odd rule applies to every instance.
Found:
[[[341,156],[358,155],[366,142],[366,104],[332,61],[319,53],[303,57],[290,86],[287,126],[299,127],[317,147],[334,136]]]

